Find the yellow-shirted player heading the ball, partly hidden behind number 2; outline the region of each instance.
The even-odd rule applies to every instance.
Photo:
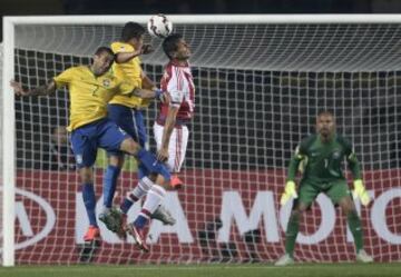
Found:
[[[127,22],[121,32],[121,39],[111,43],[111,50],[115,52],[115,63],[113,69],[119,72],[124,72],[127,81],[131,82],[134,87],[140,89],[148,89],[156,91],[156,96],[160,96],[162,91],[158,90],[151,80],[146,76],[140,66],[140,55],[151,52],[149,44],[144,44],[145,28],[136,22]],[[146,148],[147,131],[144,122],[143,110],[149,106],[149,99],[144,99],[137,96],[116,95],[108,105],[108,117],[115,121],[125,132],[134,138],[143,148]],[[99,216],[99,219],[105,222],[106,227],[113,230],[115,221],[124,221],[126,214],[134,202],[141,199],[145,195],[147,199],[153,201],[154,198],[158,198],[158,195],[148,194],[151,186],[143,180],[148,175],[144,165],[138,165],[138,185],[127,194],[127,197],[120,205],[119,210],[109,209],[113,205],[113,198],[115,195],[117,179],[120,174],[124,155],[121,152],[108,151],[109,165],[106,169],[104,177],[104,210]],[[119,212],[119,215],[116,215]],[[117,219],[113,217],[116,216]],[[154,214],[139,216],[150,216],[162,220],[164,224],[174,225],[175,219],[163,207],[158,207]],[[117,231],[117,233],[121,233]]]

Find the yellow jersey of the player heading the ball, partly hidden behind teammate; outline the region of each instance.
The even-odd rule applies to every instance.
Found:
[[[116,41],[111,43],[111,50],[114,53],[134,52],[135,49],[131,44]],[[113,65],[113,69],[121,71],[128,78],[133,86],[141,88],[141,67],[139,57],[135,57],[127,62]],[[129,108],[147,108],[150,103],[150,99],[143,99],[136,96],[123,96],[116,95],[110,103],[118,103]]]

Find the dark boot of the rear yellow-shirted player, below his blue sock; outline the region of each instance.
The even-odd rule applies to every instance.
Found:
[[[109,210],[101,212],[99,220],[105,224],[107,229],[115,233],[120,239],[126,239],[125,225],[127,222],[127,215],[120,209],[110,208]]]

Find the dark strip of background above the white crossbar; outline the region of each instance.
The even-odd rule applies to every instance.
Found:
[[[1,0],[0,16],[140,13],[388,13],[399,0]],[[0,22],[1,24],[1,22]],[[1,27],[1,26],[0,26]],[[0,28],[0,33],[2,28]],[[2,36],[1,36],[2,37]]]

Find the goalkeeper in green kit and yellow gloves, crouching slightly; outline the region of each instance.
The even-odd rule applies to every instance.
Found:
[[[275,263],[276,266],[294,263],[293,253],[301,215],[320,192],[324,192],[346,215],[350,230],[354,237],[356,260],[373,261],[372,257],[363,249],[361,220],[342,172],[344,158],[353,175],[352,194],[360,198],[362,205],[366,206],[371,199],[363,186],[360,165],[352,146],[346,139],[335,133],[334,116],[330,111],[320,112],[316,118],[316,133],[301,141],[290,161],[285,190],[280,202],[285,205],[291,198],[295,198],[295,201],[285,233],[285,255]],[[295,176],[300,165],[303,169],[303,177],[296,188]]]

